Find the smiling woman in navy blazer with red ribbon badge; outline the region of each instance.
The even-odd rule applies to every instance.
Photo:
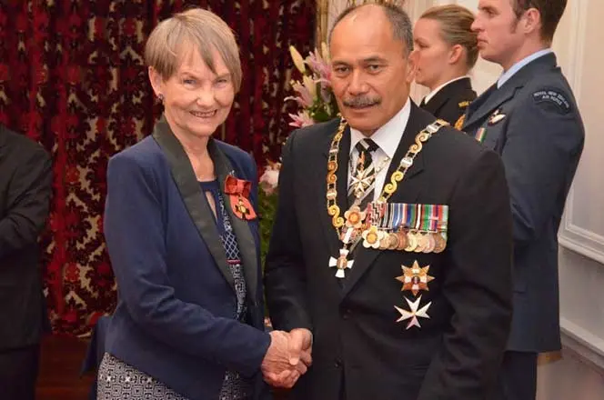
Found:
[[[99,399],[257,399],[260,372],[287,349],[287,334],[263,329],[256,167],[212,138],[241,83],[238,54],[206,10],[149,36],[165,110],[153,135],[109,161],[105,235],[119,301]]]

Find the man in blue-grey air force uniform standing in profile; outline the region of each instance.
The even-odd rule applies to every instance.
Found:
[[[584,130],[551,52],[566,0],[480,0],[480,55],[503,67],[462,130],[503,159],[514,221],[514,317],[501,379],[507,399],[536,395],[537,355],[559,350],[558,228]]]

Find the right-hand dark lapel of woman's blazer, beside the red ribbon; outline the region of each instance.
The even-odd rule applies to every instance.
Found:
[[[224,183],[227,181],[227,175],[235,175],[233,166],[228,161],[227,155],[225,155],[216,145],[216,141],[211,139],[207,145],[207,148],[214,161],[214,169],[220,185],[220,191],[224,194]],[[239,246],[239,255],[241,255],[241,262],[244,268],[244,275],[246,278],[247,293],[257,293],[257,252],[256,242],[254,236],[249,228],[249,224],[238,218],[233,213],[231,208],[231,199],[228,195],[223,195],[225,199],[225,207],[227,208],[227,214],[231,220],[231,226],[235,235],[237,236],[237,245]],[[230,274],[230,271],[229,271]]]

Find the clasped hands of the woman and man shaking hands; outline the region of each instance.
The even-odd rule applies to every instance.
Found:
[[[290,388],[312,364],[312,334],[308,329],[291,332],[273,331],[267,354],[262,361],[262,374],[268,385]]]

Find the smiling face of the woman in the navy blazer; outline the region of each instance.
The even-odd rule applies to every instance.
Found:
[[[164,97],[164,113],[180,135],[207,137],[225,122],[235,98],[235,85],[227,65],[213,52],[216,74],[196,50],[183,56],[174,75],[163,79],[149,68],[156,95]]]

